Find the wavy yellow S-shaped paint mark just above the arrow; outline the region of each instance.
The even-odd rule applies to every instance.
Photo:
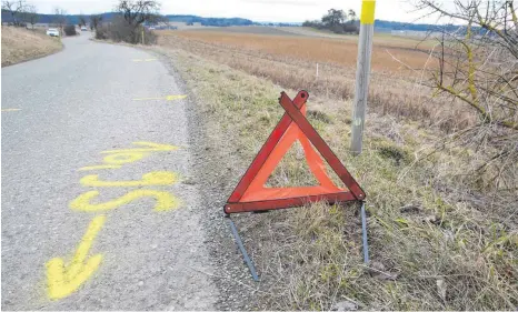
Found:
[[[98,191],[89,191],[80,194],[73,201],[70,202],[70,208],[72,210],[87,211],[87,212],[98,212],[103,210],[112,210],[119,208],[120,205],[127,204],[140,198],[155,198],[157,204],[153,208],[153,211],[168,211],[176,209],[180,205],[180,200],[171,195],[169,192],[163,191],[152,191],[152,190],[136,190],[126,193],[124,195],[107,201],[103,203],[90,203],[90,200],[99,197]]]

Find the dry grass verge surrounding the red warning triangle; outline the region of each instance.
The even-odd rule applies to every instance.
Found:
[[[231,142],[233,149],[220,151],[221,158],[240,155],[242,172],[282,114],[277,98],[285,88],[221,64],[210,53],[203,54],[207,60],[190,50],[157,49],[173,58],[198,95],[215,128],[215,145]],[[415,162],[438,130],[371,112],[365,152],[352,158],[350,102],[311,93],[308,105],[310,122],[368,194],[373,268],[362,263],[356,207],[313,204],[238,215],[261,273],[257,309],[327,310],[340,301],[365,310],[516,309],[516,207],[495,205],[457,174],[469,151],[448,150]],[[282,165],[273,183],[309,181],[297,152]],[[238,178],[226,183],[231,188]]]

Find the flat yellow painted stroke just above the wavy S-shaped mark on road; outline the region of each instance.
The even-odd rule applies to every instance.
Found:
[[[142,175],[140,181],[99,181],[98,174],[84,175],[79,182],[84,187],[146,187],[170,185],[178,181],[177,174],[169,171],[153,171]]]

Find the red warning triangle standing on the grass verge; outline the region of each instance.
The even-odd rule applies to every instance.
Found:
[[[228,199],[225,205],[226,213],[282,209],[322,200],[329,203],[365,200],[365,192],[306,119],[308,97],[308,92],[300,91],[291,101],[281,92],[279,102],[286,112]],[[308,165],[320,184],[266,188],[265,183],[271,172],[297,140],[301,143]],[[338,188],[327,175],[323,160],[311,143],[347,189]]]

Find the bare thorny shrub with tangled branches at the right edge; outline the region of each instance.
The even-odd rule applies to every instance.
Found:
[[[444,6],[418,0],[418,8],[456,22],[439,38],[438,69],[428,85],[464,104],[474,127],[449,143],[476,152],[470,169],[477,182],[498,190],[518,189],[518,18],[512,0],[455,0]],[[475,158],[474,158],[475,159]]]

